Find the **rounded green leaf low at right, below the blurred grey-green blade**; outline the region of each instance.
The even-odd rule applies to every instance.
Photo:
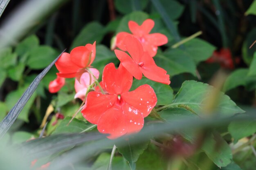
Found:
[[[231,148],[220,135],[211,135],[204,139],[202,150],[219,168],[227,166],[232,161]]]

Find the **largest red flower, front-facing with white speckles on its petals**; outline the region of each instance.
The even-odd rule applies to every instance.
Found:
[[[144,117],[157,102],[153,88],[145,84],[129,92],[132,75],[121,64],[118,69],[113,63],[106,65],[102,79],[108,95],[96,91],[88,93],[81,111],[83,117],[97,124],[99,132],[110,134],[110,139],[139,132]]]

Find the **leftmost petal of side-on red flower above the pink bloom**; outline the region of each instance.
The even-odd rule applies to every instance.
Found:
[[[80,68],[71,61],[69,53],[63,53],[55,65],[61,73],[76,73]]]

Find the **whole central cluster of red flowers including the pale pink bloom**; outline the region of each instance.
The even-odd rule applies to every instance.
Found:
[[[150,114],[157,103],[155,92],[148,84],[129,92],[133,77],[141,79],[144,75],[156,82],[171,83],[167,72],[158,67],[152,58],[157,53],[157,46],[168,42],[165,35],[149,34],[153,26],[154,21],[150,19],[141,26],[129,22],[133,35],[124,32],[117,35],[117,46],[123,50],[115,50],[121,62],[119,67],[116,69],[113,63],[107,64],[102,82],[95,88],[94,82],[98,82],[99,71],[90,68],[96,54],[95,42],[76,47],[70,54],[63,53],[56,62],[59,77],[77,78],[75,97],[86,97],[81,111],[83,117],[97,124],[99,132],[109,134],[110,139],[139,132],[143,128],[144,117]],[[94,91],[86,96],[89,86]]]

